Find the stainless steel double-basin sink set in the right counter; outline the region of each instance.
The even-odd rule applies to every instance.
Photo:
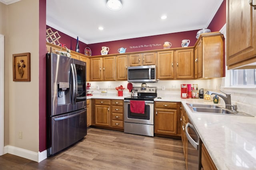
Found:
[[[210,113],[210,114],[223,114],[223,115],[240,115],[240,116],[253,116],[244,112],[234,112],[216,105],[207,104],[187,104],[193,113]]]

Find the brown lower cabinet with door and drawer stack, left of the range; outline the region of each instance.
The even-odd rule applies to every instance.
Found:
[[[92,125],[124,129],[123,100],[92,99]]]

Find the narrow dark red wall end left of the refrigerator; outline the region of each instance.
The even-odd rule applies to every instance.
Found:
[[[39,152],[46,150],[46,0],[39,0]]]

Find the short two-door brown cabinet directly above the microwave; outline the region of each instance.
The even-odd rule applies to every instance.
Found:
[[[138,53],[129,55],[129,66],[156,65],[156,53]]]

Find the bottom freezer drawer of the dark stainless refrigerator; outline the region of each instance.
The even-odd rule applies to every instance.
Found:
[[[48,117],[47,154],[52,156],[87,135],[86,109],[61,116]]]

